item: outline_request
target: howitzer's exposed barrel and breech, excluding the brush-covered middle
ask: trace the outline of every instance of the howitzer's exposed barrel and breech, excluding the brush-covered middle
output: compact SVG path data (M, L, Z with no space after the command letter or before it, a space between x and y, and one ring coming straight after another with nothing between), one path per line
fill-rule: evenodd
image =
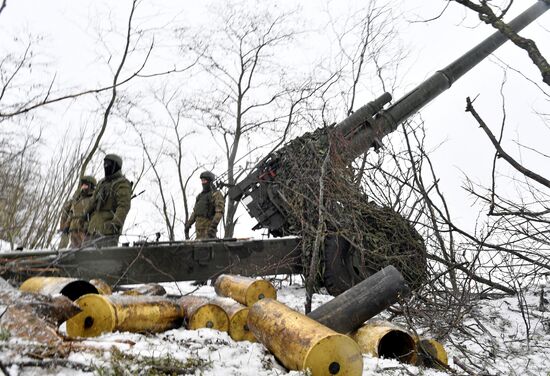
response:
M518 32L550 8L545 0L539 0L509 23ZM426 81L386 109L384 105L392 100L389 93L359 108L334 128L333 137L336 153L348 161L365 153L371 147L381 145L383 137L397 129L397 126L418 112L432 99L451 87L466 72L493 53L508 38L495 32L489 38L472 48L447 67L437 71ZM233 200L246 201L250 215L258 221L255 228L265 228L273 236L291 235L285 229L283 204L277 200L272 184L276 181L281 155L277 151L262 159L248 176L229 190Z

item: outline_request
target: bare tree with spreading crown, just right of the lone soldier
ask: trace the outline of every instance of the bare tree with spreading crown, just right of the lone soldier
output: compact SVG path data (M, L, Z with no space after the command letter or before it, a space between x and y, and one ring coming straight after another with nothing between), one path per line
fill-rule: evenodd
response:
M285 75L273 74L281 70L277 54L298 34L292 16L291 12L231 3L216 14L219 21L214 24L221 26L212 31L201 59L216 89L195 95L193 107L219 140L226 163L224 180L230 186L242 174L238 161L251 152L243 143L257 139L265 144L262 133L284 131L289 119L284 107L296 108L285 103L293 91L285 86ZM225 237L233 236L237 205L233 200L227 202Z

